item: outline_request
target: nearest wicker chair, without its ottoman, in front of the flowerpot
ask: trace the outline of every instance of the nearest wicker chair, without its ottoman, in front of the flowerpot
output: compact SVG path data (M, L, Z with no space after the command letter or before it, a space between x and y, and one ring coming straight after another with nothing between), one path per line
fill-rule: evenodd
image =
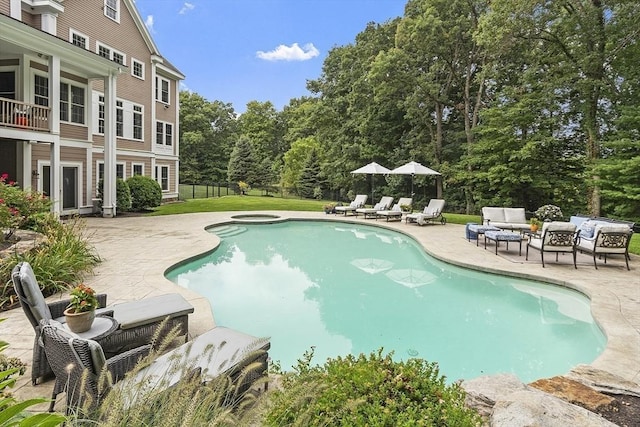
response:
M99 405L109 391L109 387L99 386L102 370L106 368L116 383L151 351L151 345L145 345L107 359L100 344L77 338L55 320L42 320L40 329L42 348L56 377L49 412L62 392L66 392L67 413Z

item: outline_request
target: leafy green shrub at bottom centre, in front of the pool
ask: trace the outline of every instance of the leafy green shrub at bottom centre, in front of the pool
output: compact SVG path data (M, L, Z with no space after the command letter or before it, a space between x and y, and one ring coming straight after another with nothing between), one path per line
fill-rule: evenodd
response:
M382 356L329 359L311 367L305 353L294 372L282 374L282 390L269 396L268 426L477 426L459 385L447 385L438 365Z

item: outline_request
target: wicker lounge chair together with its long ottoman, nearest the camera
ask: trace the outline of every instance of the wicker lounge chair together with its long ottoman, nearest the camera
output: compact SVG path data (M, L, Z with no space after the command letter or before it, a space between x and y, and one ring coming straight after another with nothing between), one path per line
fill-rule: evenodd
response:
M85 405L99 405L116 388L126 405L135 405L141 393L157 395L194 375L202 382L228 375L236 382L237 393L242 394L267 372L268 340L220 326L163 354L130 376L125 375L150 353L150 345L107 359L100 344L79 338L54 320L43 320L41 330L42 345L56 376L50 411L56 396L63 391L70 413ZM106 387L100 378L103 369L111 375Z

